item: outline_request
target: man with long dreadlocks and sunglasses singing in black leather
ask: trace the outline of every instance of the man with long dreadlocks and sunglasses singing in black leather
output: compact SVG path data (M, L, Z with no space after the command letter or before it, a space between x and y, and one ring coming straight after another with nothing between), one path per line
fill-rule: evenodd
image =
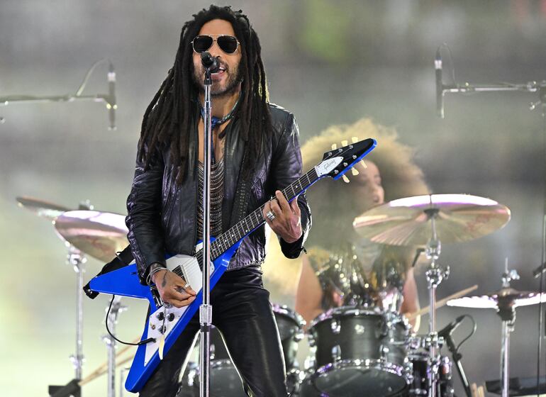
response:
M194 253L201 239L204 75L201 52L218 58L212 74L211 235L220 235L265 203L263 216L286 257L298 257L311 225L303 195L281 193L301 176L294 116L269 104L261 47L247 16L211 6L184 24L172 69L147 107L133 186L128 239L140 280L176 307L196 291L165 267L165 255ZM260 266L264 226L245 237L211 291L220 330L249 396L286 396L284 360ZM174 396L199 317L194 316L140 396Z

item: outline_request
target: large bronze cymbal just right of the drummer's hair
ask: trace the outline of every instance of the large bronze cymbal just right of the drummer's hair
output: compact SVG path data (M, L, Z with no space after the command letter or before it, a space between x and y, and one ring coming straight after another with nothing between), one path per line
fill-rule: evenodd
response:
M510 209L469 194L430 194L390 201L366 211L352 225L359 235L389 245L426 245L436 233L441 242L463 242L493 233L510 220Z

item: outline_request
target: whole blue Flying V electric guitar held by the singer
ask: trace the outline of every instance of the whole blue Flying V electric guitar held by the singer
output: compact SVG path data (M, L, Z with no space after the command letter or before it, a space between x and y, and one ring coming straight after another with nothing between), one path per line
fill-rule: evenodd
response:
M294 181L282 191L288 201L294 200L301 192L314 184L318 179L332 177L339 179L348 169L367 155L376 145L373 139L346 145L340 149L326 152L323 161L313 167L309 172ZM211 241L211 289L228 268L231 257L235 254L245 236L252 233L264 223L262 216L263 206L257 208L246 218L225 233ZM203 252L199 250L195 257L188 255L174 255L167 259L167 267L172 272L183 277L194 291L197 292L195 300L184 308L169 306L165 308L152 294L150 287L143 286L138 280L136 264L133 262L121 269L101 274L91 279L89 283L91 291L97 293L111 293L113 295L130 296L133 298L147 299L150 302L150 316L141 340L147 343L138 346L126 380L126 389L138 393L143 388L147 379L160 363L163 354L166 354L177 340L189 320L199 310L203 299L201 291L201 268Z

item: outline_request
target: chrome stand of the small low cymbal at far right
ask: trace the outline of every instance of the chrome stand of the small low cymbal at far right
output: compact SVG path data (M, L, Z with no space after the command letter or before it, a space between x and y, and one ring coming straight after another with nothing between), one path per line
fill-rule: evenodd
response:
M510 288L510 281L518 280L520 276L516 270L508 272L508 264L505 265L503 273L503 288ZM506 301L498 297L497 314L502 320L502 345L501 345L501 396L508 397L508 379L510 372L510 334L514 330L516 322L516 310L511 301Z

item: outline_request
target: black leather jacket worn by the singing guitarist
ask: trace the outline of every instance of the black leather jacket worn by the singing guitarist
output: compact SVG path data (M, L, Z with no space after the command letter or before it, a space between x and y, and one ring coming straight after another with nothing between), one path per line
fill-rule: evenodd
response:
M272 137L264 142L263 153L257 159L256 172L250 186L239 186L247 191L245 203L234 203L238 185L249 183L239 180L243 179L239 175L245 141L240 137L237 116L226 127L223 231L265 203L275 190L284 189L301 176L299 132L294 115L273 104L269 108L272 115ZM169 147L158 156L159 161L146 171L143 162L136 162L133 186L127 199L126 224L141 282L146 279L150 264L165 264L165 255L194 253L195 242L198 240L196 164L199 157L196 121L190 133L189 173L181 186L176 183L176 168L171 164ZM281 240L282 251L289 258L299 256L311 227L311 212L303 194L299 196L298 204L301 208L303 235L291 244ZM228 269L260 264L265 257L264 245L265 228L262 225L245 237Z

